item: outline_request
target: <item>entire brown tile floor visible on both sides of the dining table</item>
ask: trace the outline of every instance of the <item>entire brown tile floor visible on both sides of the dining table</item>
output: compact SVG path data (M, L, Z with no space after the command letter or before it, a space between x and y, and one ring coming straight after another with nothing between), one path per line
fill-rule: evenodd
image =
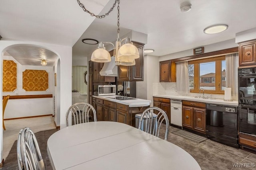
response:
M42 156L47 170L51 170L50 162L46 153L47 140L58 129L42 131L36 133L36 138L40 145ZM240 167L233 166L234 163L250 163L256 165L256 154L245 150L228 147L226 145L216 143L210 139L196 143L173 134L172 132L178 129L170 126L168 141L178 145L182 149L191 154L202 170L255 170L255 167ZM163 137L164 132L160 134ZM182 159L182 158L181 158ZM186 160L184 160L186 162ZM6 158L3 170L18 170L16 142L14 143L8 157Z

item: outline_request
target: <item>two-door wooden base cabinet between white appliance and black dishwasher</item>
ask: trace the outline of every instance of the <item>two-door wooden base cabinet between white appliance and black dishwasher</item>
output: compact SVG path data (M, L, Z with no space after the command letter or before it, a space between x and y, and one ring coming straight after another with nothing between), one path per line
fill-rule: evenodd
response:
M182 101L182 127L206 133L206 104Z

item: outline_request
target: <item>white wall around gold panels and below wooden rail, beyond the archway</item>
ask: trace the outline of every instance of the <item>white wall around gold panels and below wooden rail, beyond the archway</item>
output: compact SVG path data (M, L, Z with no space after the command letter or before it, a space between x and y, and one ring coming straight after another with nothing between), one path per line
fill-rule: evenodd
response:
M3 92L3 96L11 95L40 95L40 94L52 94L52 84L54 74L52 67L50 66L23 66L11 56L3 56L4 60L12 60L17 63L17 89L14 92ZM25 70L46 70L49 74L49 88L46 91L26 92L22 88L22 73ZM36 115L48 115L52 114L52 98L38 98L38 99L15 99L8 100L6 109L4 111L4 119L28 117Z

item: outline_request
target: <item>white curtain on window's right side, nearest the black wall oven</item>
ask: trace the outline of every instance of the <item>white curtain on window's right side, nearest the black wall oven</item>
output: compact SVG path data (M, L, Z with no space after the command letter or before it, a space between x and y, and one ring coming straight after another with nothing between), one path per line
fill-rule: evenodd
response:
M238 97L238 53L226 55L226 87L231 87L232 96Z

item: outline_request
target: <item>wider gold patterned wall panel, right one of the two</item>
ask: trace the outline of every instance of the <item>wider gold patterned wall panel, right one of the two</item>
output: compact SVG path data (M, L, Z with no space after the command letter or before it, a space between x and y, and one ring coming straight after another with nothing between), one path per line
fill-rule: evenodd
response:
M22 88L27 92L46 91L49 88L49 74L46 70L25 70L22 73Z

